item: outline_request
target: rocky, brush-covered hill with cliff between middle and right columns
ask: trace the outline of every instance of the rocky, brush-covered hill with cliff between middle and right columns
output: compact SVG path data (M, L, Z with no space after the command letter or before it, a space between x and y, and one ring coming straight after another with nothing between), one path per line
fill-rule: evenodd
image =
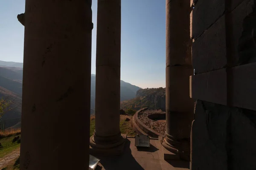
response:
M121 109L140 110L141 108L166 109L165 88L146 88L137 91L136 97L121 102Z

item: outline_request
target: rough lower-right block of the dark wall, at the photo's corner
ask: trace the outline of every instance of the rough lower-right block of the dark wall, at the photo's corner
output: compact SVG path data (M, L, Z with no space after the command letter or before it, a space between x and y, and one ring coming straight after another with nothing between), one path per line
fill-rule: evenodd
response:
M255 170L256 168L255 115L255 111L246 109L232 111L229 127L232 139L228 144L231 170Z

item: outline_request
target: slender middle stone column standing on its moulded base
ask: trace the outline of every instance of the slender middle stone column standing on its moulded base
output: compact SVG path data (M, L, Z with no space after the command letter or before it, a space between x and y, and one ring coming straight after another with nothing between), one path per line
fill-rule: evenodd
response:
M99 152L119 154L124 143L119 127L121 0L98 0L97 12L96 125L90 145Z

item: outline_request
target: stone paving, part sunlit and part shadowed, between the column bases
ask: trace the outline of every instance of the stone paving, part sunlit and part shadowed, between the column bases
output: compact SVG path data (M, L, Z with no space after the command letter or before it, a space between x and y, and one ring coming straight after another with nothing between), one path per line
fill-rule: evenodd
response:
M150 139L150 148L137 149L135 139L127 137L124 153L121 156L99 158L96 170L189 170L189 162L165 161L158 139Z

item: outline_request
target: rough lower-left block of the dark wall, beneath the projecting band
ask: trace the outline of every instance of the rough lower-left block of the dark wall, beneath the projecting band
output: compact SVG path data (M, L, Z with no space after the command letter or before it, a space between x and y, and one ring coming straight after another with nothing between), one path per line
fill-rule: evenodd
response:
M191 170L227 170L227 124L230 118L226 106L197 101L192 128Z

